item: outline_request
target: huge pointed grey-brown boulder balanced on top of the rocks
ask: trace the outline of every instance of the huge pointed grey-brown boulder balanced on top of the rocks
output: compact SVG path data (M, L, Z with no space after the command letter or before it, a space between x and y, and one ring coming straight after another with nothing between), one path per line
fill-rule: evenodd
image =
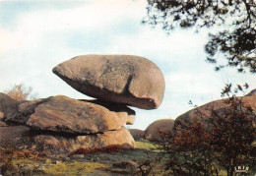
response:
M158 66L139 56L82 55L57 65L53 73L89 96L143 109L158 108L164 93Z

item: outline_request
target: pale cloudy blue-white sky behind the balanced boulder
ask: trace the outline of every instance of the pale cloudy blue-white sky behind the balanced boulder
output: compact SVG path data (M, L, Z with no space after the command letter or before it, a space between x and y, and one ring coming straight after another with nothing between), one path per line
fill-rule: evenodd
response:
M191 109L189 100L202 105L220 99L225 84L247 83L246 92L256 88L255 75L234 68L216 72L205 61L207 30L166 34L142 25L146 6L146 0L0 0L0 92L23 83L39 97L90 98L52 68L85 54L146 57L162 71L165 92L159 109L132 107L136 120L128 128L145 130L156 120L175 119Z

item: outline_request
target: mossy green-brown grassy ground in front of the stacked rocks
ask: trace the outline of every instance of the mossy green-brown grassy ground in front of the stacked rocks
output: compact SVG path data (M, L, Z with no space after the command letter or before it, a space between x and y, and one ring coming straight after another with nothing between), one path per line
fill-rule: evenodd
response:
M0 168L4 175L131 175L139 170L140 164L157 154L157 147L148 141L136 144L137 148L132 150L71 157L40 156L30 151L1 148ZM114 166L120 161L137 165Z

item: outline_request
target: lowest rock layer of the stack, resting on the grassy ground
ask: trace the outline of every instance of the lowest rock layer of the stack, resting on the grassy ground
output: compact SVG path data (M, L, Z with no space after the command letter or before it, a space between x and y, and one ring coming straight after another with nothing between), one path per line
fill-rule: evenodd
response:
M131 134L124 128L102 134L65 136L32 131L25 126L0 127L0 147L16 147L22 150L57 155L68 154L80 148L96 149L116 146L123 149L135 148Z

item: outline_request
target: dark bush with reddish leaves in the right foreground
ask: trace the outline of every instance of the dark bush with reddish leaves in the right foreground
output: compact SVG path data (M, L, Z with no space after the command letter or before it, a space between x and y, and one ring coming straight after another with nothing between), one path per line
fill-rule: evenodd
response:
M247 84L244 87L248 88ZM224 100L227 106L209 107L210 114L196 108L198 118L180 121L173 135L161 134L165 170L174 175L219 175L225 170L231 176L235 166L253 169L256 114L235 95L241 89L238 86L232 92L227 85L222 92L228 95Z

